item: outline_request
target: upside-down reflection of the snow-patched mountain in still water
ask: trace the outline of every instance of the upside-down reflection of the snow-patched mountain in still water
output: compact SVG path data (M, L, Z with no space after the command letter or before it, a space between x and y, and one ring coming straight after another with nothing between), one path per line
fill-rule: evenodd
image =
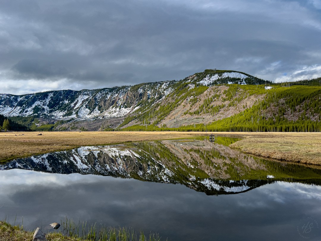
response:
M201 138L80 147L13 160L0 165L0 170L19 168L181 183L207 195L246 192L276 180L321 183L319 169L249 156L219 144L226 141L233 139L219 138L218 143ZM273 180L267 175L273 175Z

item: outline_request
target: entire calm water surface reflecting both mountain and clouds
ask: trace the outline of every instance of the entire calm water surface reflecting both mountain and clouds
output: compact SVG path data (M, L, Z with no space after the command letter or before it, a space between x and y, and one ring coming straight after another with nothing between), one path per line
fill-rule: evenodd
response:
M232 141L81 147L0 165L0 219L46 229L67 216L164 240L321 240L321 170L247 156Z

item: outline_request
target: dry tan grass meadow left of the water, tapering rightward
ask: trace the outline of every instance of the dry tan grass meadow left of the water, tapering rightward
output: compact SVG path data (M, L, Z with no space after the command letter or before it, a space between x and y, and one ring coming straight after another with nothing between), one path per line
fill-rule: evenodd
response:
M197 132L1 132L0 162L81 146L191 138Z

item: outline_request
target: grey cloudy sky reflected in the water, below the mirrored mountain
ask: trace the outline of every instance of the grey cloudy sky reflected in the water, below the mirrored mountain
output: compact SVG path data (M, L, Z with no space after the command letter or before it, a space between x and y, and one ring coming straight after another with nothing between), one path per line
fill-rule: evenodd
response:
M11 181L10 181L11 180ZM238 195L207 196L183 185L99 175L0 172L0 215L27 229L66 215L126 226L165 240L302 240L297 227L321 221L321 187L275 182ZM309 240L320 240L318 229ZM46 230L46 232L48 229Z

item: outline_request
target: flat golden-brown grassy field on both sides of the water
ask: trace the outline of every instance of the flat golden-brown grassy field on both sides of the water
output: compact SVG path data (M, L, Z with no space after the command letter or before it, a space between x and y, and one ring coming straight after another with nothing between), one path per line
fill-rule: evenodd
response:
M67 150L161 139L193 138L213 133L243 138L230 145L242 152L277 160L321 165L319 132L1 132L0 162L14 158Z

